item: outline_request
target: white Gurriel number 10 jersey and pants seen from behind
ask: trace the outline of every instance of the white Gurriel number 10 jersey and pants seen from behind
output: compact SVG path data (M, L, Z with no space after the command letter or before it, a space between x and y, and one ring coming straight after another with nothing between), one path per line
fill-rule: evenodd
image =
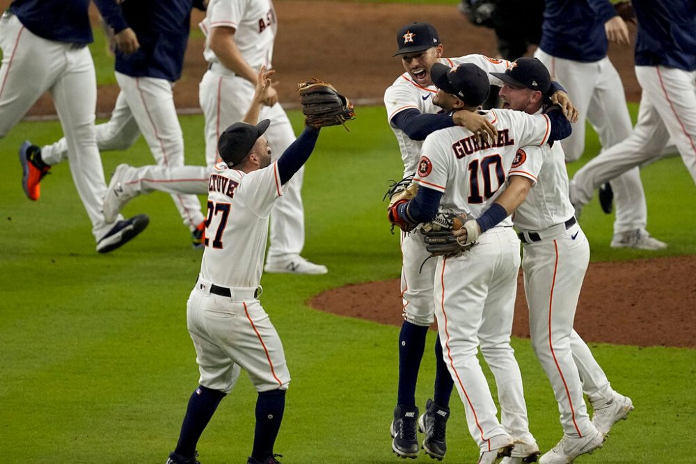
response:
M545 115L507 110L487 115L498 129L492 144L481 145L463 127L441 129L423 143L416 182L443 192L442 208L480 216L500 193L518 148L547 141ZM510 346L519 243L508 217L481 234L470 250L440 257L436 266L434 305L443 355L464 403L469 433L482 451L501 435L533 440ZM503 425L476 358L478 346L496 377Z

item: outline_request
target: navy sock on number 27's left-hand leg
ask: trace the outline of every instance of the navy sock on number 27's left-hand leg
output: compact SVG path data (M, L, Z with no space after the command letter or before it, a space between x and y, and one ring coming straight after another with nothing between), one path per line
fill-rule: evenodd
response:
M184 458L191 458L196 453L196 443L203 429L210 422L220 401L225 397L223 392L211 390L199 385L191 394L189 406L181 426L179 441L174 452Z

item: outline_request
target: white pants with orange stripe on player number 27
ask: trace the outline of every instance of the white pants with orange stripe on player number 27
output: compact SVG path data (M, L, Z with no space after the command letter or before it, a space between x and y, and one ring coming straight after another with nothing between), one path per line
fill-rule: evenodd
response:
M211 294L209 282L201 284L196 282L187 302L200 385L229 393L244 369L258 392L286 390L290 372L283 344L254 289L230 298Z

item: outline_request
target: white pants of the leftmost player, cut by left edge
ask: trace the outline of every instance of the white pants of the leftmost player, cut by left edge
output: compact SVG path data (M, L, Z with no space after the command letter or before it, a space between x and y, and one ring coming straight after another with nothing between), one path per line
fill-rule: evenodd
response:
M99 241L113 223L104 222L106 182L95 140L97 81L88 47L34 35L15 15L0 19L0 137L17 125L36 100L51 93L61 120L70 172ZM117 221L122 220L118 216Z

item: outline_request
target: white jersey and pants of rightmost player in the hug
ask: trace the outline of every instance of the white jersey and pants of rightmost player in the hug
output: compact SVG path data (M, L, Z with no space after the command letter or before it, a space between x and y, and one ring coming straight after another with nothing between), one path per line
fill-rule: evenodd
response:
M561 145L523 147L513 166L509 176L535 180L513 215L523 243L532 347L551 381L564 434L583 437L594 430L583 386L594 403L612 398L606 375L573 329L590 244L573 216Z

